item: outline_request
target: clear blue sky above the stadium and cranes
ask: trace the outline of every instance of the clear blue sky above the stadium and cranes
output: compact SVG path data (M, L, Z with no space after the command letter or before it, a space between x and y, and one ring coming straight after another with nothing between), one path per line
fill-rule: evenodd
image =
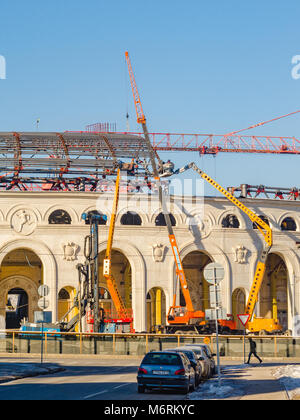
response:
M148 129L222 134L300 109L296 0L12 0L1 6L0 131L139 130L129 51ZM300 114L249 134L299 137ZM299 157L172 155L223 186L300 187Z

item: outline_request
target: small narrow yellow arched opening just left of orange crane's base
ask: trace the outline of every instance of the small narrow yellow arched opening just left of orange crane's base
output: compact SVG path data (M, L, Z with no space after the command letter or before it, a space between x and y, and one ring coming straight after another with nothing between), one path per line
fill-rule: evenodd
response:
M152 331L155 325L166 325L166 295L160 287L147 293L147 331Z

